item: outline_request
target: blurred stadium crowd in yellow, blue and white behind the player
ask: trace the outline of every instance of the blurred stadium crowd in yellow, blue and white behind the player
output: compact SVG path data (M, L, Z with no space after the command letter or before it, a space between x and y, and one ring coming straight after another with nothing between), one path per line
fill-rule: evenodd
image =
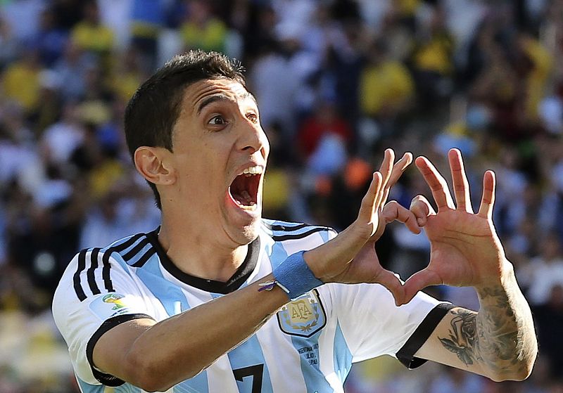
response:
M531 378L377 359L346 392L563 392L562 0L0 0L0 393L77 391L53 289L77 250L158 226L122 113L194 48L246 65L272 145L265 217L345 228L386 147L446 174L460 148L474 205L497 174L495 225L540 340ZM410 169L391 196L418 193ZM378 247L403 278L428 261L400 225ZM432 291L478 307L473 290Z

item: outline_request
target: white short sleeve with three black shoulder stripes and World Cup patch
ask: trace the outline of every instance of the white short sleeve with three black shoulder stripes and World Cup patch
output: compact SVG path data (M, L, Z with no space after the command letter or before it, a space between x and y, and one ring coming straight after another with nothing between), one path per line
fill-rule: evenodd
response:
M107 386L124 382L94 367L97 340L120 323L156 319L125 263L99 249L82 250L72 259L53 297L53 317L77 377L91 385Z

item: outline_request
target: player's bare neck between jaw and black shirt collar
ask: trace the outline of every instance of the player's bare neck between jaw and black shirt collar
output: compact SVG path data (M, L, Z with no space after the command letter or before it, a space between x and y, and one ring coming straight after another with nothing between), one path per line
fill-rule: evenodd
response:
M244 262L248 245L222 245L208 231L194 231L189 220L166 218L158 241L172 262L184 273L215 281L227 281ZM171 229L173 228L173 229Z

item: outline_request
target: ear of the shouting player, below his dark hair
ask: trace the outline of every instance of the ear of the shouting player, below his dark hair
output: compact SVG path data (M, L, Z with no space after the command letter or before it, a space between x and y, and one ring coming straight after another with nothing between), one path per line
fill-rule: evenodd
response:
M137 171L148 181L170 186L176 181L176 172L168 159L170 151L165 148L141 146L135 150L134 162Z

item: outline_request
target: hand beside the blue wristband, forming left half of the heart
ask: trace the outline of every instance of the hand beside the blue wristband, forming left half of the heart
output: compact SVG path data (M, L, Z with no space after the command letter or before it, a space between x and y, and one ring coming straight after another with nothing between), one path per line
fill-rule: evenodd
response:
M412 162L410 153L405 153L393 165L394 158L393 150L387 149L353 224L328 243L305 252L304 257L315 276L324 283L380 283L393 293L399 304L403 300L402 283L391 271L381 267L374 242L381 237L385 225L393 220L404 222L415 233L420 230L410 210L394 201L386 204L391 186Z

